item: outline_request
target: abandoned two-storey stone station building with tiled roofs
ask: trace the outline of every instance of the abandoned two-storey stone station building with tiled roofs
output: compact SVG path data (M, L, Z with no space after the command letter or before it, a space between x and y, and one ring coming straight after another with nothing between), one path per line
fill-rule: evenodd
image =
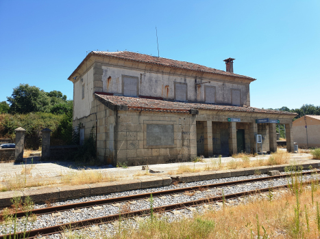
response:
M293 150L296 114L250 107L255 79L234 74L234 59L224 61L226 71L129 51L90 52L69 76L80 142L93 128L100 160L151 165L256 152L256 135L262 151L275 152L280 123Z

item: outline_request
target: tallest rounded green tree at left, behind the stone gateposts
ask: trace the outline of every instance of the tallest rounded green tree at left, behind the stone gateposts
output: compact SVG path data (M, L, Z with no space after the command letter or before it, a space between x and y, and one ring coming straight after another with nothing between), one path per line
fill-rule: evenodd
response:
M20 84L8 98L11 113L49 112L50 98L36 86Z

